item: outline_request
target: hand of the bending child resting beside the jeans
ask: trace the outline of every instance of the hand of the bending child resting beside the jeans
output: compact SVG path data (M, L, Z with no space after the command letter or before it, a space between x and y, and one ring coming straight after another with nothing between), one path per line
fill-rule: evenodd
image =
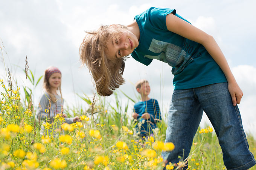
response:
M240 101L244 94L238 84L236 82L231 82L229 83L228 89L232 98L233 106L235 106L236 104L240 104Z

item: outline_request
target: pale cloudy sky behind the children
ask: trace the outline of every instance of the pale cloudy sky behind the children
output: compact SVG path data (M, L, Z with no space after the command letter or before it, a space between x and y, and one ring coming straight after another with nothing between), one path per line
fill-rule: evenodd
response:
M6 80L5 69L9 68L18 86L33 89L23 72L27 56L29 69L36 79L49 66L61 70L61 89L66 105L87 107L75 95L85 93L91 98L95 92L88 69L81 67L79 62L78 50L84 31L97 29L102 24L130 24L135 15L151 6L176 9L177 14L215 38L244 93L238 106L245 132L255 135L254 0L0 0L0 79ZM151 86L149 97L158 100L163 115L168 113L173 91L170 66L158 60L145 66L129 58L123 77L126 83L116 90L120 102L127 102L120 90L136 99L138 93L134 84L146 78ZM43 94L42 83L33 89L36 103ZM113 99L113 96L106 98L110 103ZM130 102L128 114L132 113L132 108ZM204 114L202 123L205 122L209 123L209 120Z

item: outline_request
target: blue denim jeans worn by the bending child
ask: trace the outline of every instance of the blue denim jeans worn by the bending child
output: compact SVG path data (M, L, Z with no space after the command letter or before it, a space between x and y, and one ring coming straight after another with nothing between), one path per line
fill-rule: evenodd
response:
M233 106L227 86L227 83L216 83L174 90L165 142L174 143L175 149L162 152L163 159L168 163L177 163L180 161L178 156L184 159L189 156L204 111L217 134L226 168L246 170L256 164L249 150L238 107Z

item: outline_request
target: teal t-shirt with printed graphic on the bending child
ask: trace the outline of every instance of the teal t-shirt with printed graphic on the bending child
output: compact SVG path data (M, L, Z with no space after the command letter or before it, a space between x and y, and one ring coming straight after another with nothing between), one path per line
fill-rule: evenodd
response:
M135 20L140 29L139 46L131 56L149 65L153 59L172 66L174 89L190 89L227 82L224 73L203 45L170 32L166 15L173 13L188 22L175 9L151 7ZM189 23L189 22L188 22Z

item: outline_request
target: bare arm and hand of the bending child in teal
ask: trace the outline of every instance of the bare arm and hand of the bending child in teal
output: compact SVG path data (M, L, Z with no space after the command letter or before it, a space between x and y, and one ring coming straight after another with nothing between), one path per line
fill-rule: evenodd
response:
M235 77L229 68L227 60L215 39L197 27L194 27L186 21L176 17L172 13L166 16L166 26L169 31L183 36L184 38L198 42L202 44L204 48L206 48L208 53L219 65L227 78L229 84L229 93L232 97L233 105L235 106L236 104L239 104L243 96L243 92L236 83Z

